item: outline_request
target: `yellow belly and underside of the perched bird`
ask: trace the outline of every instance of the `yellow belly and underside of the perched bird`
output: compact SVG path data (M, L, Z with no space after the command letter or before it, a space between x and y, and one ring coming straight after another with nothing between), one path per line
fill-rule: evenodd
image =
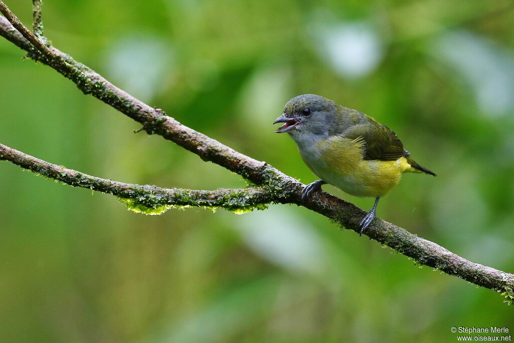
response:
M355 196L383 196L410 171L405 157L394 161L364 160L361 141L341 137L319 141L302 152L305 164L325 182Z

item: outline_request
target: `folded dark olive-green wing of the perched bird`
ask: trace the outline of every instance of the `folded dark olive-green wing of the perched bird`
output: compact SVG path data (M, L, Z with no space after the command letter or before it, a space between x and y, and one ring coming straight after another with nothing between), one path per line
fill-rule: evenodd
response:
M344 136L363 140L365 143L364 159L366 160L393 161L402 156L409 156L393 130L373 119L370 123L355 125L344 132Z

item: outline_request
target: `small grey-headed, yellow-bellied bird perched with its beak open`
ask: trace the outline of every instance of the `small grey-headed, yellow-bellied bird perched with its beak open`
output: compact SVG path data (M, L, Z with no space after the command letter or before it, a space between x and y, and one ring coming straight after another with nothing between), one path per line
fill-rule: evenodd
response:
M302 201L324 184L375 198L360 222L360 234L375 219L380 197L400 182L402 173L435 176L410 157L386 125L319 95L292 98L276 123L284 124L275 132L287 132L295 140L303 161L320 178L304 188Z

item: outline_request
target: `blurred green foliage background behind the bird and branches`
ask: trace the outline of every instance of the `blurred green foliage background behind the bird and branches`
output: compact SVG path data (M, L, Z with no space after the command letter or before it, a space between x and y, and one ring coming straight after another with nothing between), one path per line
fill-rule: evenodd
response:
M29 1L7 5L30 25ZM386 123L437 177L378 216L514 271L514 6L508 1L46 0L53 44L144 102L304 183L272 121L315 93ZM245 182L84 96L0 40L0 142L128 183ZM418 268L305 208L127 211L0 163L0 341L455 341L507 326L498 293ZM368 210L372 199L327 191Z

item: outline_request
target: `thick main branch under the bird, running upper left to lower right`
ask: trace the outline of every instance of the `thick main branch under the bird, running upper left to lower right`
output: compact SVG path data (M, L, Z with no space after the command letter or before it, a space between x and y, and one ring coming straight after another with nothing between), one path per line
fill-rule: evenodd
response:
M6 15L7 6L0 1L0 11ZM245 179L267 187L272 192L273 202L297 204L314 210L332 219L344 228L359 230L359 222L365 212L353 204L345 202L325 192L317 192L305 203L301 202L301 192L305 185L283 174L265 162L255 160L207 137L175 119L163 111L154 109L142 101L128 95L94 70L75 61L58 49L34 44L33 34L19 21L11 20L19 33L0 17L0 35L16 46L29 52L29 57L56 69L73 81L84 94L90 94L111 105L126 116L143 125L148 134L158 134L173 141L205 161L211 161ZM31 43L38 48L34 51ZM32 53L30 53L32 52ZM59 63L55 62L59 61ZM70 68L68 68L70 66ZM501 292L510 302L514 299L514 275L478 263L468 261L436 243L419 238L405 229L386 221L375 219L366 231L371 239L387 245L417 263L427 265L466 281Z

